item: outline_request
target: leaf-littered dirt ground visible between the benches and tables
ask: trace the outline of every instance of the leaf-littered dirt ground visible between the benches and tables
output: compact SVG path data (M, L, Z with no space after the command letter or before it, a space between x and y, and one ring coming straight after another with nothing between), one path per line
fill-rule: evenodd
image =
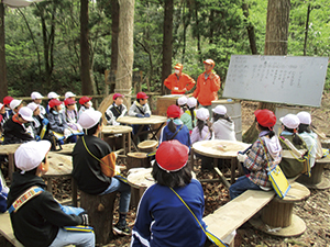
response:
M329 120L330 120L330 93L322 97L322 105L319 109L307 109L311 111L312 124L318 131L324 133L330 137ZM242 130L246 131L253 123L253 112L257 108L257 103L243 101L242 102ZM195 170L197 178L213 178L212 172L199 173L199 169ZM229 177L229 171L224 172ZM330 179L330 167L326 166L323 179ZM55 183L56 184L56 183ZM67 181L69 190L69 181ZM213 212L221 205L229 201L228 190L219 182L204 183L206 212L205 215ZM56 190L55 190L56 191ZM58 190L57 190L58 191ZM302 202L296 203L294 213L301 217L306 223L306 232L297 237L274 237L262 233L255 228L245 227L238 229L235 237L235 246L279 246L279 247L298 247L298 246L314 246L314 247L330 247L330 190L310 190L310 197ZM68 194L68 193L67 193ZM58 192L56 197L66 198ZM118 203L118 200L117 200ZM136 209L131 209L128 215L128 222L133 227ZM114 217L118 217L116 215ZM114 222L117 220L114 218ZM226 226L223 226L226 227ZM114 238L107 245L110 246L130 246L130 237L114 236ZM0 246L3 246L0 238ZM6 245L8 246L8 245Z

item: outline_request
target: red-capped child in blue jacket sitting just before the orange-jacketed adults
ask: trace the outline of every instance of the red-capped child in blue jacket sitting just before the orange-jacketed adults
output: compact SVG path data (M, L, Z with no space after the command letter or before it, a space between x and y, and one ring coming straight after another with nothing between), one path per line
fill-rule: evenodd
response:
M190 148L191 141L188 127L180 121L180 108L173 104L167 108L167 124L162 128L160 144L165 141L177 139Z

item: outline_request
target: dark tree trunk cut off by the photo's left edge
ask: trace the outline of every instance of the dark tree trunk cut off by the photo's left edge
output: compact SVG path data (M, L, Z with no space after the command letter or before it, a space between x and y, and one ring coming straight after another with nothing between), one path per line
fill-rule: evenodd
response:
M4 50L4 4L0 2L0 99L8 94Z

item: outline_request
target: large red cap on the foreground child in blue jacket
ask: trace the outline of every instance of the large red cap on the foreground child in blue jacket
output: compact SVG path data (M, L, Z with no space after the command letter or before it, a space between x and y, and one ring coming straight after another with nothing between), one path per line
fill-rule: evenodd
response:
M156 151L158 167L167 171L178 171L188 161L189 148L177 139L161 143Z

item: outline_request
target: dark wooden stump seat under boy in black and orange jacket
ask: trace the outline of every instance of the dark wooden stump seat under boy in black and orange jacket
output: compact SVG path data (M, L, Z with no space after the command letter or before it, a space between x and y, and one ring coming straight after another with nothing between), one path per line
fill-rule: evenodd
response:
M89 224L94 227L97 244L108 244L113 237L113 205L117 192L91 195L80 191L80 206L88 212Z

